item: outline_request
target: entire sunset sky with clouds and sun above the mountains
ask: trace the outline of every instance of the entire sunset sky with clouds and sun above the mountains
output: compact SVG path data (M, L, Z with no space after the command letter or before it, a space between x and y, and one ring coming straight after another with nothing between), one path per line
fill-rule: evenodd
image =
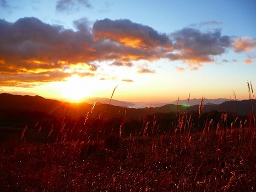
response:
M248 99L256 1L0 0L0 93Z

